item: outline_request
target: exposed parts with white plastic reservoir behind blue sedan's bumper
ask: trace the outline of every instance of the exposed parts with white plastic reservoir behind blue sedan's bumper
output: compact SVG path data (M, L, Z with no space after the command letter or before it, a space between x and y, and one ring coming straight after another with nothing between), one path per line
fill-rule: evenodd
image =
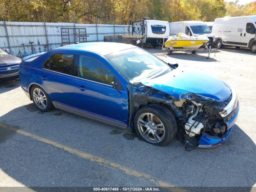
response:
M183 122L178 135L184 142L186 150L192 150L198 146L202 132L219 137L225 134L224 120L213 106L207 106L201 102L185 101L181 108L183 116L180 120Z

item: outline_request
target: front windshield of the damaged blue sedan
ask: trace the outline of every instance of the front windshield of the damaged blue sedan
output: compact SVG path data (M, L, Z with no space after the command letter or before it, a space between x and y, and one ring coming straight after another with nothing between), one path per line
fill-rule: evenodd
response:
M162 60L140 48L122 50L105 57L131 83L140 82L166 70L171 71Z

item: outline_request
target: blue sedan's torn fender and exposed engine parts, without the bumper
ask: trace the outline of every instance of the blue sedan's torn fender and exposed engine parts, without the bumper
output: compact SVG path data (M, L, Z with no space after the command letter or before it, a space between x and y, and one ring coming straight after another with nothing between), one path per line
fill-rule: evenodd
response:
M220 112L230 102L232 95L224 102L209 101L200 96L178 99L154 88L137 84L129 90L130 118L138 108L150 103L157 103L168 108L176 118L177 136L185 145L185 150L198 147L201 136L206 133L211 137L223 138L227 133L226 118ZM130 119L130 126L132 126Z

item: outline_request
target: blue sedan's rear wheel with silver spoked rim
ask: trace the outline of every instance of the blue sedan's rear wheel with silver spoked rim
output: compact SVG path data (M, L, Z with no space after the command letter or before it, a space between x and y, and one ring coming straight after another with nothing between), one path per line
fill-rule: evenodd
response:
M53 109L52 101L50 100L48 94L41 87L34 85L30 94L38 110L42 112L48 112Z

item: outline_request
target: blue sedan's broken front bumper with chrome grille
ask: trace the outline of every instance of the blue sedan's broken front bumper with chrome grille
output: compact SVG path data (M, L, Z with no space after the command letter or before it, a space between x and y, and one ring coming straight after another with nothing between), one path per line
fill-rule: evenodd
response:
M230 103L224 108L223 112L220 113L220 115L224 119L228 119L228 121L225 120L226 127L227 127L226 133L223 134L222 137L218 137L218 136L212 136L206 132L203 132L198 142L199 144L198 147L202 147L202 148L215 147L224 143L227 140L227 138L230 136L230 133L234 128L234 124L238 118L238 112L239 112L239 103L237 100L236 93L234 92L234 90L232 90L232 99ZM232 115L231 119L230 119L230 115Z

